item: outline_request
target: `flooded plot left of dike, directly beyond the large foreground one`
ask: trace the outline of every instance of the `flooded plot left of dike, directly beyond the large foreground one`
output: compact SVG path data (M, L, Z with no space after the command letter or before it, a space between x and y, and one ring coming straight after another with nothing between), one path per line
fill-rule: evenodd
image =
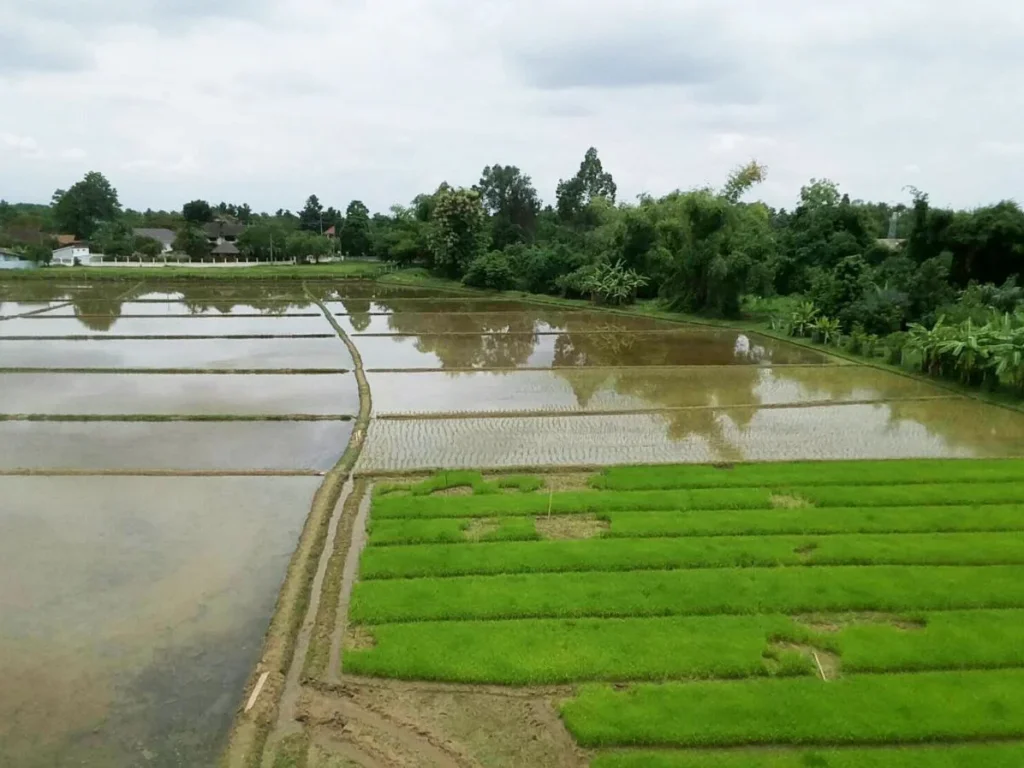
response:
M0 421L0 470L326 471L348 421Z

